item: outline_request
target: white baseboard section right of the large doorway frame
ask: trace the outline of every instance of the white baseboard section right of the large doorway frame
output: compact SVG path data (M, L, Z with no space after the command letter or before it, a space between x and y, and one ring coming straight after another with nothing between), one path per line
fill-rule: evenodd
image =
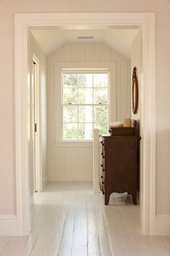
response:
M156 216L154 234L159 236L170 236L170 215Z

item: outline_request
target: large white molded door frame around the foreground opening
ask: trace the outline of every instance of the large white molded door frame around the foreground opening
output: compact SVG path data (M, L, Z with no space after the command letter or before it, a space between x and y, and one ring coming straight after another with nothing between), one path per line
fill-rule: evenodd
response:
M141 192L141 229L155 233L156 219L156 62L155 14L153 13L49 13L15 14L15 142L18 234L30 232L30 135L27 71L28 33L32 26L110 25L139 27L143 33L142 132L143 175Z

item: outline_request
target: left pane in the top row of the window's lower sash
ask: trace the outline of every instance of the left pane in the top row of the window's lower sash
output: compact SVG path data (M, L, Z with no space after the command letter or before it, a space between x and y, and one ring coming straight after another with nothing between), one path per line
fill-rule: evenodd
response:
M63 122L77 122L78 121L78 107L77 106L63 106Z

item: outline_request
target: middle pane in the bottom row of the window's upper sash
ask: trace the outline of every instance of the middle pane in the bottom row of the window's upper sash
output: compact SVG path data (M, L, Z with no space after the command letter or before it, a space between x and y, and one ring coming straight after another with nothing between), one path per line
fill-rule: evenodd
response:
M92 104L93 103L93 90L92 89L79 89L79 104Z

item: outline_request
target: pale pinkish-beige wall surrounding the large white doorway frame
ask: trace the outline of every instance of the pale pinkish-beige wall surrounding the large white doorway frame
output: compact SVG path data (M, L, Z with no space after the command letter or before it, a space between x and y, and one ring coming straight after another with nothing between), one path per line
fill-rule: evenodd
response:
M0 214L15 212L14 13L156 12L156 213L170 214L170 4L166 0L0 1Z

